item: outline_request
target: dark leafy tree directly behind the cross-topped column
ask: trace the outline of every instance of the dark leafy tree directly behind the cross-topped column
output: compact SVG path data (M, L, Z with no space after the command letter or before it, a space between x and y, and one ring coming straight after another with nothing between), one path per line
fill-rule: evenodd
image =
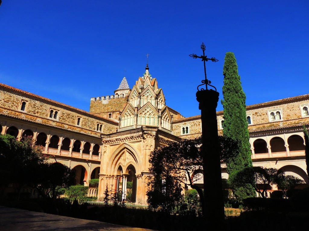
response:
M220 136L221 160L227 161L237 153L238 144L227 137ZM191 177L194 172L202 171L202 139L173 142L167 147L150 153L150 176L148 181L147 202L151 209L160 209L172 213L181 202L182 185L187 184L196 189L204 208L202 189L195 182L200 180Z

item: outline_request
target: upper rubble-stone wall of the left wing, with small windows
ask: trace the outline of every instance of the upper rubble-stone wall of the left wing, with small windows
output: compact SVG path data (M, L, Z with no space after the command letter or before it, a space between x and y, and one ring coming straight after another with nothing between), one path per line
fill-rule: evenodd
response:
M26 102L24 110L22 102ZM49 117L50 110L58 112L56 119ZM94 136L118 128L115 121L4 84L0 84L0 114ZM96 131L97 123L103 124L102 132Z

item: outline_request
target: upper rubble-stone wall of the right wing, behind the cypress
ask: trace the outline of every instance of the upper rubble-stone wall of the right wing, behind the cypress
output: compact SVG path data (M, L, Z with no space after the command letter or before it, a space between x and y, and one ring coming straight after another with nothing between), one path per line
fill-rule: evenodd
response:
M304 115L303 107L309 109L309 95L301 95L266 103L247 106L247 116L251 117L249 132L263 131L274 128L286 128L309 123L309 116ZM270 112L280 112L281 119L271 121ZM218 134L222 135L221 121L223 111L217 112ZM188 134L182 134L182 128L187 127ZM173 121L173 134L184 139L192 139L201 135L201 116L192 116Z

